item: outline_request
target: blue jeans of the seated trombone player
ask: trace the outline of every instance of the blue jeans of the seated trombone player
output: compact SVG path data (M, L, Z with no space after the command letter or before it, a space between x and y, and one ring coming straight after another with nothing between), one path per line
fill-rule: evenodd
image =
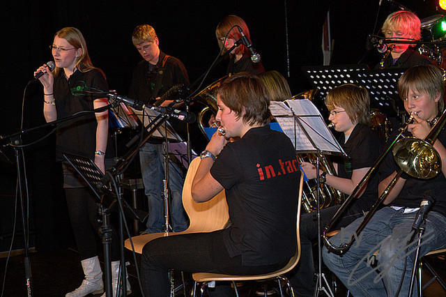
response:
M367 226L362 230L355 243L343 256L328 252L323 248L323 261L331 271L351 291L353 296L395 296L403 273L407 257L406 272L399 296L407 296L410 287L410 273L415 258L415 243L407 245L415 220L415 213L403 213L385 207L377 211ZM350 241L353 232L362 222L358 218L345 229L331 238L334 245ZM420 245L420 257L431 250L446 246L446 218L440 213L429 212L426 215L426 229ZM406 250L406 248L408 249ZM370 266L374 252L378 266ZM414 285L413 296L417 294Z

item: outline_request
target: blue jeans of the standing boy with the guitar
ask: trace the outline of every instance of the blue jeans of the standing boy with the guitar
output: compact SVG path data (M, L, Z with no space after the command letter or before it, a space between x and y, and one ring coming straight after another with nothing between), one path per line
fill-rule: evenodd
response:
M164 231L164 146L146 143L139 149L141 176L148 199L147 232ZM169 196L171 227L174 231L187 228L182 191L184 174L174 162L169 162Z

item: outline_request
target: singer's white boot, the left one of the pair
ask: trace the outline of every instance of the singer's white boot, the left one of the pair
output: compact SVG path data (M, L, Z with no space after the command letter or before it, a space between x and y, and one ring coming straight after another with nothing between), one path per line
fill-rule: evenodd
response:
M98 256L81 261L84 269L85 279L79 288L75 289L66 297L82 297L89 294L102 294L104 291L104 283L102 282L102 271Z

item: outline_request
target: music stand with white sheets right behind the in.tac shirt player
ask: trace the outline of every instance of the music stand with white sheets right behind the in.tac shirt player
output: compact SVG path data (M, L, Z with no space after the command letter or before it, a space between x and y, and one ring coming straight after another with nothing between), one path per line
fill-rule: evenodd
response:
M295 147L296 153L316 154L316 216L318 220L318 272L316 273L315 296L324 292L330 297L334 294L330 289L325 275L322 273L322 245L321 245L321 183L319 178L319 155L344 155L337 140L328 129L321 113L308 99L274 101L270 105L271 114L275 116ZM323 287L322 281L327 288Z

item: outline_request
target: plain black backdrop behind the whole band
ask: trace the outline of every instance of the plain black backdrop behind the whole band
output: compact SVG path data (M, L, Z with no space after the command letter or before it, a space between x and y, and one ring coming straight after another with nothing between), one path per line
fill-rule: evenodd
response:
M424 18L439 13L436 2L401 0L398 3ZM289 79L293 93L299 93L309 89L300 74L300 67L320 66L323 63L321 32L328 9L334 40L332 64L350 64L357 63L365 52L367 34L374 30L378 3L378 0L8 1L3 3L1 9L3 96L0 135L19 130L25 86L33 70L52 59L48 45L52 43L54 33L64 26L76 26L82 31L93 64L105 71L110 89L125 95L132 68L140 60L131 42L134 26L144 23L153 25L161 49L185 63L193 82L210 66L218 53L215 26L224 15L236 14L247 22L252 43L261 53L266 70L279 70ZM388 13L397 9L395 3L382 1L378 26ZM205 85L222 77L224 68L215 68ZM44 121L39 91L40 84L29 84L24 96L25 127L33 127ZM36 171L34 165L46 162L40 156L51 150L48 143L43 142L29 150L30 175L41 181L39 185L48 183L49 173L42 172L43 169ZM6 155L10 156L10 152L7 151ZM15 167L6 162L0 162L0 166L0 188L3 190L0 202L10 203L15 190ZM50 170L49 166L45 169ZM43 195L57 196L59 193L56 188L53 190L56 194L51 194L47 191L47 185L41 191ZM53 202L45 203L45 207L49 204ZM8 215L0 214L0 217L8 218L10 208L2 208Z

